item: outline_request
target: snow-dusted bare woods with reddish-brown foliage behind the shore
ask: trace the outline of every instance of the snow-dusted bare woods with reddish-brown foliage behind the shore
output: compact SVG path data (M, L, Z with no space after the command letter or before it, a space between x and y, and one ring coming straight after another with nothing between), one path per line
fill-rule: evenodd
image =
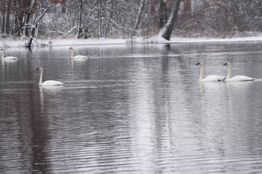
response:
M82 39L262 32L262 0L0 0L0 11L1 36L14 39L33 29L39 38Z

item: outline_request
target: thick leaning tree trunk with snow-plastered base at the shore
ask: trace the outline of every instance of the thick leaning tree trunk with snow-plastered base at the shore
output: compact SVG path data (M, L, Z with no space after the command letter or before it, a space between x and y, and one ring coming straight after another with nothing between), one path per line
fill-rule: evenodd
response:
M171 11L170 17L167 23L165 23L165 26L159 31L159 36L163 37L164 39L168 41L170 41L170 36L174 29L174 23L177 20L177 14L179 13L180 3L181 3L181 0L174 0L172 4L172 11Z

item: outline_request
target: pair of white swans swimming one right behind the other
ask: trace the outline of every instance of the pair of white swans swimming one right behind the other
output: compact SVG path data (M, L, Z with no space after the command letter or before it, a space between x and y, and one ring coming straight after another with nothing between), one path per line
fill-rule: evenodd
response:
M228 76L217 76L217 75L210 75L205 78L203 78L203 72L204 72L204 64L203 62L196 63L196 65L200 65L200 82L214 82L214 81L225 81L225 82L237 82L237 81L252 81L255 80L255 78L250 78L248 76L234 76L230 78L230 72L231 72L231 63L225 63L223 65L226 65L228 67Z

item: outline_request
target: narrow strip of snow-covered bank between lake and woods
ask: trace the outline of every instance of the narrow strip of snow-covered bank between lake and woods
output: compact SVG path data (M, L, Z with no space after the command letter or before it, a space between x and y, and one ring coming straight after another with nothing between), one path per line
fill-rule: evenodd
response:
M207 38L179 38L173 37L170 41L159 38L151 39L51 39L37 40L33 47L37 46L63 46L63 45L115 45L128 43L207 43L207 42L244 42L244 41L262 41L262 36L250 36L244 38L232 39L207 39ZM25 47L28 40L0 39L0 45L5 47Z

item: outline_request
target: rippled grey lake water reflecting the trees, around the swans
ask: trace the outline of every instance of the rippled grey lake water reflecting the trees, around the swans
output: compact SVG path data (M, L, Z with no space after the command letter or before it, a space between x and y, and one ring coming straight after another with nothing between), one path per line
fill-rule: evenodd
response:
M8 48L0 173L262 173L262 43ZM205 75L254 82L199 83ZM59 80L61 87L39 87Z

